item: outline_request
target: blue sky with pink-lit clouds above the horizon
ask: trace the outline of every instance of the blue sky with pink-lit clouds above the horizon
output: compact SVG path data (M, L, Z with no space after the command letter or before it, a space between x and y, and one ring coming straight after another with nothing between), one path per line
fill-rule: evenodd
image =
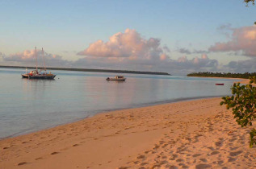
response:
M0 65L256 72L255 21L243 0L0 0Z

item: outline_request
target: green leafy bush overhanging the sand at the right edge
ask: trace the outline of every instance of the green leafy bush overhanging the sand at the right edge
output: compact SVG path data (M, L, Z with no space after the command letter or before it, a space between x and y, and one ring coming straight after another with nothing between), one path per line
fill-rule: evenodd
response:
M256 76L250 77L248 85L235 83L232 89L232 96L222 97L224 101L220 105L226 105L227 109L232 109L234 118L241 127L252 126L256 119ZM250 131L250 147L256 145L256 130Z

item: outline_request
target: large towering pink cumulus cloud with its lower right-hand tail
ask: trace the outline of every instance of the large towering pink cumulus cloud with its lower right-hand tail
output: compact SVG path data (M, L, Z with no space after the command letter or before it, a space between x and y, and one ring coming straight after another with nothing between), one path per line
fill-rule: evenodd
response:
M124 33L112 35L106 43L103 40L91 43L84 51L78 52L78 55L86 57L76 63L88 65L97 62L98 66L107 65L108 68L115 68L116 64L123 68L137 65L141 70L149 71L150 68L150 71L163 72L186 72L195 68L207 70L218 65L217 60L210 60L206 54L191 60L187 56L172 60L166 52L170 49L162 47L161 39L144 39L136 30L126 29Z

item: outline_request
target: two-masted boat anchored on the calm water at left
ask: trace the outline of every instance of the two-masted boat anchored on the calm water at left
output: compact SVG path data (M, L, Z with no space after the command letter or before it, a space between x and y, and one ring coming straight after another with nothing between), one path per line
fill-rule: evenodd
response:
M42 47L42 53L44 57L44 49ZM36 47L35 47L35 56L36 56ZM44 70L44 72L42 72ZM26 73L21 75L23 78L28 78L28 79L49 79L52 80L56 75L52 74L51 72L46 71L45 67L45 60L44 60L44 69L41 69L40 72L38 71L37 68L37 56L36 56L36 70L32 70L31 72L27 73L27 68L26 68Z

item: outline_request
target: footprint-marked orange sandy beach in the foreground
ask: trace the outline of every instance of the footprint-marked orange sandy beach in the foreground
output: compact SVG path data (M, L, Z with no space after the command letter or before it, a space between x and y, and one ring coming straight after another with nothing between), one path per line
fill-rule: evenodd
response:
M115 110L6 138L0 167L256 167L250 128L241 129L220 100Z

